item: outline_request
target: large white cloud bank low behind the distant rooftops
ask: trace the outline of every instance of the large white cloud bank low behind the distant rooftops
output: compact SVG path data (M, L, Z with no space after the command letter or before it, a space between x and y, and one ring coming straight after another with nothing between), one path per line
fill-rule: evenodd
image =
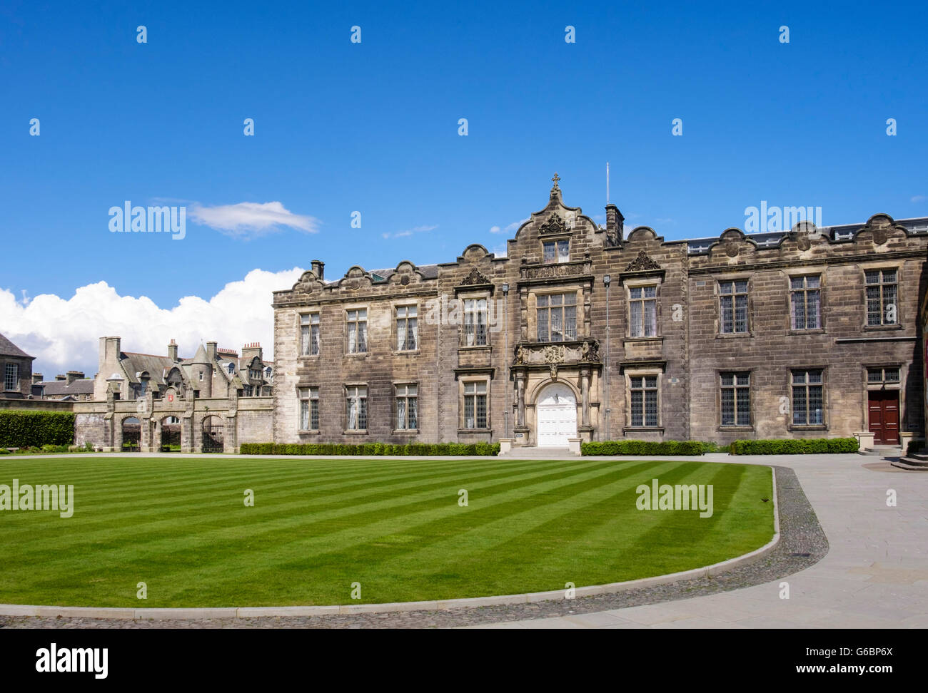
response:
M122 337L123 351L143 354L166 355L168 342L176 339L183 358L192 357L200 341L230 349L260 342L264 357L272 359L271 292L289 289L302 273L298 267L252 270L212 298L184 296L171 308L159 307L148 296L120 296L106 282L82 286L70 298L41 294L18 300L0 289L0 333L36 357L33 368L48 380L71 369L93 377L98 339L108 335Z

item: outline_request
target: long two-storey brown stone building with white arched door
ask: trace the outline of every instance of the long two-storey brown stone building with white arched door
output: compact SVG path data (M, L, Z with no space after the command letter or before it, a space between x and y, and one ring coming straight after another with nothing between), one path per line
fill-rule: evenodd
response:
M928 220L666 241L605 211L555 175L505 258L336 281L314 260L274 295L273 439L923 435Z

